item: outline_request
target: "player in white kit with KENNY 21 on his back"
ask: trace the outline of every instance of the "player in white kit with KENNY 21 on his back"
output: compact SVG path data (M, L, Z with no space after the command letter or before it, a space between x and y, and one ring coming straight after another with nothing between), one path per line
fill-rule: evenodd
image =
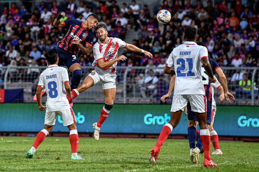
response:
M182 116L182 109L190 101L191 108L195 112L200 125L201 141L204 147L205 167L216 167L217 164L210 158L210 132L207 127L207 105L204 87L202 83L201 62L205 71L213 78L212 68L208 61L208 51L206 47L199 46L195 43L197 28L186 26L184 29L184 44L174 48L167 59L165 73L176 74L174 97L171 108L170 121L163 126L159 135L157 144L151 149L149 161L152 165L156 164L161 146L167 139L173 128L176 127ZM171 67L174 66L174 70Z

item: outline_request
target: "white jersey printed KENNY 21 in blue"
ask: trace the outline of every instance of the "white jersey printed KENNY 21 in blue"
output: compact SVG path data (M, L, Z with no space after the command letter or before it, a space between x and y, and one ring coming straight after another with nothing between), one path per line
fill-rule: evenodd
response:
M206 47L195 42L185 41L175 47L169 55L166 65L174 66L176 80L174 94L204 94L201 74L201 59L208 58Z

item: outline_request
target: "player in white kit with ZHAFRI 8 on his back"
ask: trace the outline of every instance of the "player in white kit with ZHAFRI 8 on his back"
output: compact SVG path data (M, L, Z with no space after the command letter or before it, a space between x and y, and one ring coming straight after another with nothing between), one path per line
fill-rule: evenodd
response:
M38 146L53 129L56 118L59 115L63 121L63 125L67 126L70 131L69 141L72 150L71 159L83 160L79 155L77 155L79 139L75 114L69 106L66 98L66 92L71 96L71 87L69 85L67 70L64 67L58 66L58 52L56 49L49 50L45 54L45 58L49 62L49 66L39 77L39 84L36 93L39 110L46 111L45 126L44 129L37 134L31 149L27 152L26 158L33 158ZM41 91L43 88L46 89L47 93L46 106L41 104Z

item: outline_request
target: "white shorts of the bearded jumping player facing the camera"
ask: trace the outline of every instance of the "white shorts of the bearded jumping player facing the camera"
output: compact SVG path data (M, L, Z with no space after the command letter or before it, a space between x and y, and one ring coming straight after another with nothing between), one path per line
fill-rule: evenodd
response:
M104 71L99 67L94 67L94 70L88 76L93 78L94 85L102 81L103 90L116 88L115 82L117 75L115 73Z

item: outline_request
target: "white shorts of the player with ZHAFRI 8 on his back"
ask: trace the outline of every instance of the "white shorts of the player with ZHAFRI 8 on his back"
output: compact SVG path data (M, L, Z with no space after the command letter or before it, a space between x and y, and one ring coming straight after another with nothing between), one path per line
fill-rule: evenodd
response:
M63 121L63 126L68 126L73 123L76 123L75 113L72 108L66 109L63 111L54 111L54 112L46 112L45 113L45 124L47 125L55 125L56 118L58 115L61 117Z

